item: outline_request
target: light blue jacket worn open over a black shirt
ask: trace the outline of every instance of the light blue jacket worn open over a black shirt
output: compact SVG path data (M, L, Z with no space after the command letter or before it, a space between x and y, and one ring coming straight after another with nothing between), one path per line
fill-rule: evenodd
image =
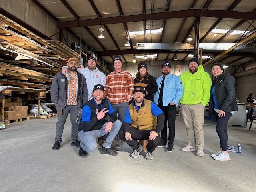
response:
M158 91L154 95L154 102L158 104L158 98L161 88L161 82L163 76L157 78L156 83L158 85ZM163 106L168 106L170 102L173 102L178 107L178 102L183 94L183 85L179 76L174 74L168 74L164 79L163 90Z

